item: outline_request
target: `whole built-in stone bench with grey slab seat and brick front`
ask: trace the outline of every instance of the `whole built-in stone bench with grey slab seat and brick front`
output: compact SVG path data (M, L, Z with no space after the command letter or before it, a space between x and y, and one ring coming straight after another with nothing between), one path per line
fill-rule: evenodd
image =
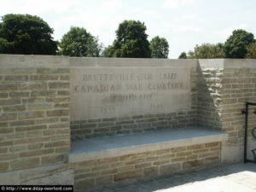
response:
M224 131L200 126L73 141L75 186L90 189L220 164Z

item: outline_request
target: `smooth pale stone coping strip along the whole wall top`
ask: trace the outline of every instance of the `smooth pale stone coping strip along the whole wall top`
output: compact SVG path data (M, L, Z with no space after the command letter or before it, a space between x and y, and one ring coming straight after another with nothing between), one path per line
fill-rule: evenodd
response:
M0 67L208 67L256 68L255 59L152 59L0 54Z

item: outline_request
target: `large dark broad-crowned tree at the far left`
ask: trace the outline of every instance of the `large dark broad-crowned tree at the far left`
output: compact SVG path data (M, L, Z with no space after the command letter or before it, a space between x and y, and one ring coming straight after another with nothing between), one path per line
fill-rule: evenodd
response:
M54 30L32 15L4 15L0 23L0 53L55 55Z

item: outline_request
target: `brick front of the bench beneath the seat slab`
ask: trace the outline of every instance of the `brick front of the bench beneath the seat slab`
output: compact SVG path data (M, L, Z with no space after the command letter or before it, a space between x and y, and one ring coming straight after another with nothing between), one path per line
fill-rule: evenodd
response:
M74 187L90 191L111 184L218 166L220 150L219 142L203 143L73 163Z

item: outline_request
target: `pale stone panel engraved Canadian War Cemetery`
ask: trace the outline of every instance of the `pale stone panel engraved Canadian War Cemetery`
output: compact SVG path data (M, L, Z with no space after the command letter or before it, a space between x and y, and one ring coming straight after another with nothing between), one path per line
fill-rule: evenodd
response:
M72 67L71 119L188 110L189 93L189 67Z

